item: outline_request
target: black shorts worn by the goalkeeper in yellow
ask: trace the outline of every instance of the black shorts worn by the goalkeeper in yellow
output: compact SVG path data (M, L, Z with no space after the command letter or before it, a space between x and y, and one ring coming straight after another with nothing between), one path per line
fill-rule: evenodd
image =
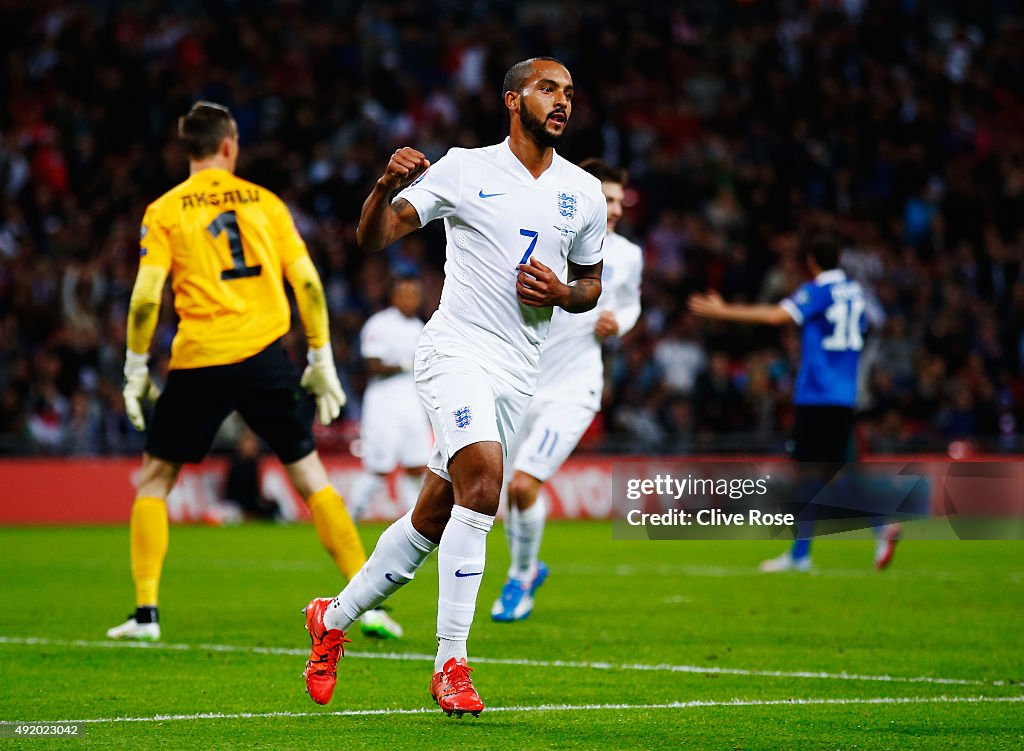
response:
M284 464L309 455L316 404L279 339L241 363L172 370L157 400L146 453L169 462L199 462L232 411Z

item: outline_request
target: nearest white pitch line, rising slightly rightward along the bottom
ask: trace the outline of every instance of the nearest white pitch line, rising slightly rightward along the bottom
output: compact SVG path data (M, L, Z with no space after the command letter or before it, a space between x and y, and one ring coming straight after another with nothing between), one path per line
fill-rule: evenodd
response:
M750 700L730 699L725 702L691 701L668 702L666 704L539 704L518 707L488 707L485 712L594 712L602 710L624 709L701 709L715 707L813 707L837 705L865 704L989 704L1006 702L1024 702L1024 696L1017 697L878 697L871 699L774 699ZM54 720L4 720L4 723L33 722L35 724L54 724L57 722L174 722L198 719L270 719L276 717L373 717L400 714L437 714L436 707L416 709L343 709L336 712L198 712L196 714L155 714L151 717L87 717L81 719Z

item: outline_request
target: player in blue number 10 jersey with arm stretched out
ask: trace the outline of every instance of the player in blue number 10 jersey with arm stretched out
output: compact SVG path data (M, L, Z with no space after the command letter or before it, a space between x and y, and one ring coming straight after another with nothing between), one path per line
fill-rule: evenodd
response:
M835 473L829 467L855 458L853 407L857 400L857 368L864 346L864 290L839 267L839 244L819 236L807 246L807 265L814 279L778 304L740 305L725 302L716 292L694 295L690 310L705 318L746 324L801 327L802 353L794 392L796 424L793 458L814 462L820 483ZM814 478L812 476L812 484ZM811 568L811 525L798 526L790 551L761 564L761 571L808 571ZM876 528L877 569L892 560L899 526Z

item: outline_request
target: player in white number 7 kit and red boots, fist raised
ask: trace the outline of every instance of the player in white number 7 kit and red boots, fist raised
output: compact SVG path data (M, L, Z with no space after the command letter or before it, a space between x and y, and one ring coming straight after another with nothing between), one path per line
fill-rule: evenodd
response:
M585 312L597 304L606 222L600 181L554 150L572 111L565 67L550 57L517 62L503 92L505 141L452 149L433 166L415 149L399 149L362 206L356 238L364 250L444 220L444 288L414 366L434 450L416 507L385 530L337 597L305 609L312 641L306 690L319 704L334 692L345 630L410 582L437 548L430 694L449 715L483 710L466 641L504 461L537 385L553 308Z

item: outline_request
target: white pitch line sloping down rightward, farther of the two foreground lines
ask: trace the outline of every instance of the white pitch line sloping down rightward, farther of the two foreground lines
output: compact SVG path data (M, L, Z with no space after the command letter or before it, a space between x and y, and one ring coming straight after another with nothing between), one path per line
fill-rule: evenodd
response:
M83 639L60 640L35 636L0 636L0 644L23 646L80 646L87 649L122 650L168 650L174 652L221 652L248 655L284 655L306 657L308 649L288 646L245 646L237 644L185 644L163 641L86 641ZM433 662L433 655L415 652L346 652L346 657L364 660L393 660L397 662ZM811 670L751 670L745 668L723 668L705 665L673 665L669 663L612 663L612 662L571 662L567 660L525 660L518 658L474 657L474 664L515 665L529 668L572 668L579 670L632 670L660 673L695 673L698 675L746 675L763 678L812 678L820 680L867 680L885 683L937 683L942 685L1009 685L1006 680L978 680L973 678L942 678L930 675L861 675L858 673L827 673Z

